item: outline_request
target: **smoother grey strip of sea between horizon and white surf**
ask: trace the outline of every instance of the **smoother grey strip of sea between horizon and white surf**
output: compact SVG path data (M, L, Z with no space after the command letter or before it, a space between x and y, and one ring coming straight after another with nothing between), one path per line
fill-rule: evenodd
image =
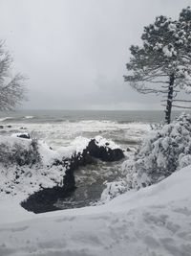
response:
M181 111L173 111L172 117ZM162 110L17 110L0 112L0 121L19 123L59 123L64 121L107 120L118 123L163 121Z

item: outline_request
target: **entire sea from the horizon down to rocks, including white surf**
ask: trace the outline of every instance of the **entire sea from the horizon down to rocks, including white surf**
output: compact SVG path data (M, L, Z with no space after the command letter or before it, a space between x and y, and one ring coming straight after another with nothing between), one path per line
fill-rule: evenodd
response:
M180 115L174 111L173 119ZM76 137L101 135L125 149L136 145L150 129L161 123L163 111L126 110L18 110L0 113L0 134L30 132L53 148L70 145Z

